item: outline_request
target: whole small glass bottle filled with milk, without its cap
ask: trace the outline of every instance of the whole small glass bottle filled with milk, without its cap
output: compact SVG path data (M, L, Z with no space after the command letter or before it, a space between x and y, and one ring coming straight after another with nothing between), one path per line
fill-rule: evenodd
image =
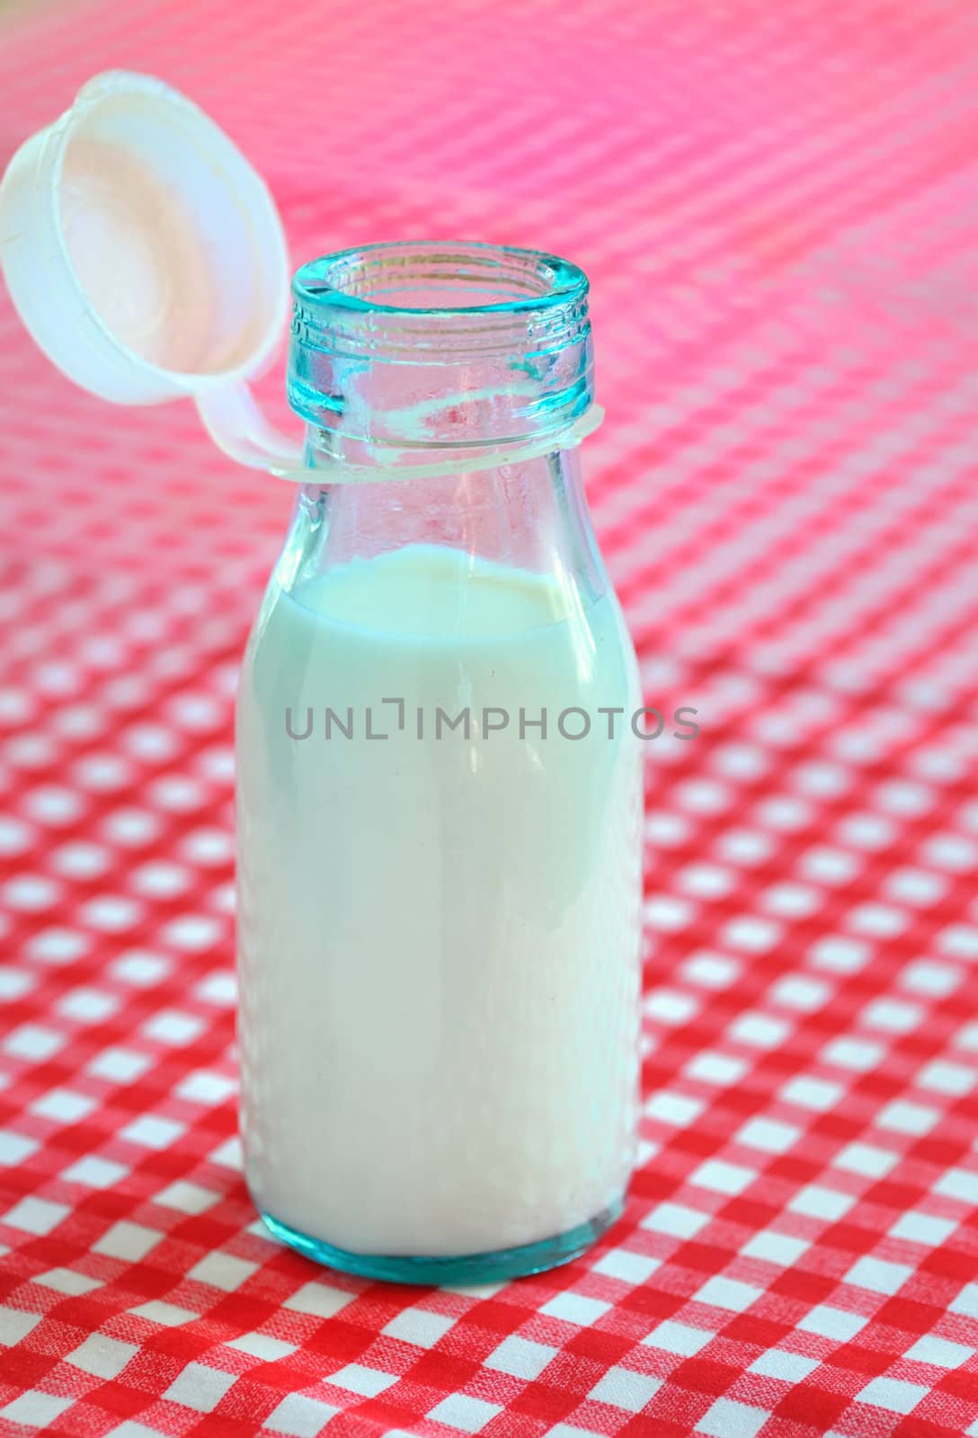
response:
M380 244L293 282L292 525L237 709L242 1122L270 1229L488 1281L621 1211L640 706L577 439L587 279Z

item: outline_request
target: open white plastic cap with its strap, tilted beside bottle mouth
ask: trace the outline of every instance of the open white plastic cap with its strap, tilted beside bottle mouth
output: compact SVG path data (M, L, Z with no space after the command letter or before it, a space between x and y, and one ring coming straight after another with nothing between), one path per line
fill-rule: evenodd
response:
M246 381L285 332L289 263L262 178L184 95L111 70L0 183L0 262L49 360L116 404L193 395L220 447L299 464Z

